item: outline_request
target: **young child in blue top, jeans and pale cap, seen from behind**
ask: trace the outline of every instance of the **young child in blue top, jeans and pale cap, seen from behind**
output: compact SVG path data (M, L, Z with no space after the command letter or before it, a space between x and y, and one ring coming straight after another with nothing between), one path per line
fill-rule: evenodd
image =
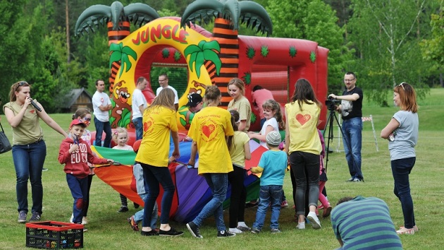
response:
M269 205L271 205L271 233L280 232L278 219L283 179L287 168L287 154L279 150L279 143L280 134L277 131L268 133L266 144L270 150L262 154L259 166L251 169L253 173L262 173L259 205L257 206L256 221L252 227L252 233L254 234L261 232Z

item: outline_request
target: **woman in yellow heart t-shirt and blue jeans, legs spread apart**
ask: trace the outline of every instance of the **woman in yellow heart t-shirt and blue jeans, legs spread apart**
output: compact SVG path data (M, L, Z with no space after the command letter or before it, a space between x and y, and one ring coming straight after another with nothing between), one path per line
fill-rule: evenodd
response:
M195 157L199 151L199 175L202 175L213 193L211 201L206 203L202 211L187 228L192 236L203 238L199 227L204 220L214 215L217 237L231 237L235 234L226 230L223 222L222 203L225 201L228 185L228 172L233 171L226 136L233 136L231 114L226 109L217 107L221 102L221 90L216 85L210 85L205 90L206 107L195 114L192 119L188 137L192 138L192 148L189 165L195 165Z

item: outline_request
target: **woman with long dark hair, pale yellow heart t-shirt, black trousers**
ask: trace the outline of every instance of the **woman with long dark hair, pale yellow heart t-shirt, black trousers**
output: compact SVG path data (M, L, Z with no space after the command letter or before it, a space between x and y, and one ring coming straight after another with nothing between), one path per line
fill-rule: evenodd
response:
M285 151L290 154L290 167L296 182L295 205L299 229L305 228L307 183L307 219L312 222L314 229L321 228L315 213L319 197L319 155L322 150L316 129L320 112L321 102L316 99L312 85L306 79L297 80L291 102L285 105Z

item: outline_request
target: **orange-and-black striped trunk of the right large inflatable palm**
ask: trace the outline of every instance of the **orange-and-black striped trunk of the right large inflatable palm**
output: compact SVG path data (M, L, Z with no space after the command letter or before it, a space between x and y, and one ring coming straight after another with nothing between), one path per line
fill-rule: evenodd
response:
M228 94L228 82L235 77L238 77L239 68L239 40L238 30L233 30L229 20L223 18L216 18L214 20L214 34L211 40L216 40L221 46L222 66L219 75L216 75L216 67L211 61L206 61L205 68L211 78L211 83L216 85L222 93L221 105L224 109L227 108L231 100Z

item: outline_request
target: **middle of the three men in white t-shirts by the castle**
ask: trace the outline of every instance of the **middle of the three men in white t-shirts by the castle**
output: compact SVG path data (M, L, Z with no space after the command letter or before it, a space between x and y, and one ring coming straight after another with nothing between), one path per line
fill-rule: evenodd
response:
M142 115L145 108L147 108L147 100L142 94L142 90L147 88L147 78L140 76L137 79L136 88L132 92L132 123L136 129L136 141L142 139L143 136L143 125L142 125Z

